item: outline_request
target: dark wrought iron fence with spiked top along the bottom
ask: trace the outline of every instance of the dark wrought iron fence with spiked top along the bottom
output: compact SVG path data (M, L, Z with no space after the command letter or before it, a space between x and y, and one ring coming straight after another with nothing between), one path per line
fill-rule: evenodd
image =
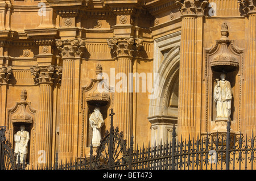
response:
M133 136L129 149L122 132L113 128L113 110L110 131L106 132L93 155L75 161L59 161L56 153L53 165L38 166L40 170L246 170L255 169L255 136L230 134L228 122L226 134L206 134L196 138L178 140L176 127L172 128L172 140L159 145L148 143L134 146ZM135 148L134 148L135 147ZM24 162L24 161L23 161ZM16 169L24 169L18 158Z

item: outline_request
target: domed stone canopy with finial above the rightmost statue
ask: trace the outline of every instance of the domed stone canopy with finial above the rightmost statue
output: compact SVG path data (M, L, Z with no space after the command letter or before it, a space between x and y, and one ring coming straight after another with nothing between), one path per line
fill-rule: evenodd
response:
M228 38L228 24L221 26L221 39L216 41L216 45L208 50L209 64L214 71L234 71L240 65L241 49L234 47L234 41Z

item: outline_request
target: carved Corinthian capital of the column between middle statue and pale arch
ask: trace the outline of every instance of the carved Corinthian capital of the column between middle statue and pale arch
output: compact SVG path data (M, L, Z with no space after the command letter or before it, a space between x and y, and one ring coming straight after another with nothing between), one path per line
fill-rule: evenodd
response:
M143 39L114 37L108 40L108 45L112 49L114 57L138 56L138 53L143 49Z

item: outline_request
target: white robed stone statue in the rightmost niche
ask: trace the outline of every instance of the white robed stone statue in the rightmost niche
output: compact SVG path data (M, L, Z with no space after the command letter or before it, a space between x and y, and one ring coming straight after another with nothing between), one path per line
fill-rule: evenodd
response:
M226 81L226 74L221 73L221 80L216 79L214 87L214 102L216 102L216 120L228 121L231 115L232 88L229 81Z

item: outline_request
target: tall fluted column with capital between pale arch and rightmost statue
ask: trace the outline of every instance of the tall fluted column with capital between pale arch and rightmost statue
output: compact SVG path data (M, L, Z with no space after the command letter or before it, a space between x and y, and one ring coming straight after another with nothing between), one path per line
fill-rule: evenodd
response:
M179 75L179 137L200 133L203 15L208 1L176 1L182 14Z

